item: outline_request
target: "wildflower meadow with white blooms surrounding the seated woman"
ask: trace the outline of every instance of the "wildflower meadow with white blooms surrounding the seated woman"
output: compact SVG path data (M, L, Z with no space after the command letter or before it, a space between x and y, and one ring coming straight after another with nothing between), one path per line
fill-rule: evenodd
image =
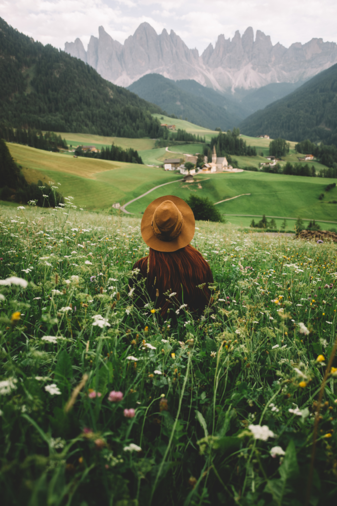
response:
M140 219L65 202L0 207L2 504L335 503L336 245L197 222L213 297L164 321Z

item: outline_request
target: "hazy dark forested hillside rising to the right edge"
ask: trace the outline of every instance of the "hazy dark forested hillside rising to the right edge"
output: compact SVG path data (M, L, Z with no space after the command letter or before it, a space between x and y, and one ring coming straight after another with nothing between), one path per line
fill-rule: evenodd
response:
M240 123L246 135L337 143L337 65Z

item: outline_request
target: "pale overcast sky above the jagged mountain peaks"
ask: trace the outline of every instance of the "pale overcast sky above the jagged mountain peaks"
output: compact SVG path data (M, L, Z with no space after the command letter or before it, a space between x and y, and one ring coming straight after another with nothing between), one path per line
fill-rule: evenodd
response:
M248 26L289 47L313 37L337 42L336 0L0 0L0 17L43 44L64 49L79 37L86 49L98 27L124 43L143 21L174 30L201 53L220 33Z

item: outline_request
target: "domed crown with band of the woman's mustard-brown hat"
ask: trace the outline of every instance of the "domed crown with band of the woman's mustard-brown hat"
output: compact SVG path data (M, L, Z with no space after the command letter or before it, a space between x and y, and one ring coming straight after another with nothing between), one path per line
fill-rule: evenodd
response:
M182 224L182 214L172 200L164 200L153 214L152 228L162 241L175 239L181 232Z

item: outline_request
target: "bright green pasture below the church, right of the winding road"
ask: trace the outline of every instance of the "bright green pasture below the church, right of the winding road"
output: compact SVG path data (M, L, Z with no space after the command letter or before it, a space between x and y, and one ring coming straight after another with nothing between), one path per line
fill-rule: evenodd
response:
M237 174L204 174L198 175L195 179L197 181L194 183L172 184L168 193L188 198L193 192L201 197L209 197L212 202L251 193L251 195L228 200L217 206L220 212L226 215L265 214L289 218L301 216L337 222L337 204L322 203L318 200L319 194L324 192L326 185L332 181L329 179L249 171ZM154 190L130 204L127 210L133 213L142 212L152 200L165 193L165 187ZM337 200L337 189L330 190L325 198Z

